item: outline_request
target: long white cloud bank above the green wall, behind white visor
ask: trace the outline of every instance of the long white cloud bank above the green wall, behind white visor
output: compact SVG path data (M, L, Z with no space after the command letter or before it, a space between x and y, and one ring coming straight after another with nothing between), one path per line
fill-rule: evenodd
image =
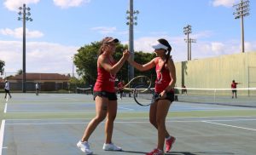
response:
M203 35L207 34L207 35ZM192 43L192 60L194 59L203 59L209 57L216 57L220 55L232 55L241 52L241 43L240 40L227 40L224 42L219 41L203 41L203 37L209 37L212 33L199 32L195 33L197 36L197 43ZM183 61L188 60L188 48L187 43L184 42L183 36L178 37L168 37L160 36L166 38L169 43L172 45L172 58L174 61ZM160 37L140 37L134 40L134 49L135 51L143 51L151 53L154 51L151 44L154 43ZM128 44L128 41L122 42ZM256 41L246 42L245 51L253 52L256 51Z

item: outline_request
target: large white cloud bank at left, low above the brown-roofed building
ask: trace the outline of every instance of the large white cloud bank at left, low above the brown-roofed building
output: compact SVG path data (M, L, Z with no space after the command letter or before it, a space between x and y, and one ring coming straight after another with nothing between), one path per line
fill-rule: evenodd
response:
M71 73L72 56L79 47L59 43L27 42L26 72ZM0 41L1 60L5 61L5 72L22 69L22 42ZM9 73L10 74L10 73Z

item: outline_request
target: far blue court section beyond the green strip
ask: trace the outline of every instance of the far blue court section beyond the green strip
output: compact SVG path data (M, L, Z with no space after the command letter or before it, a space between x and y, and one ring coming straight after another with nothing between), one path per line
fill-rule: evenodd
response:
M17 96L19 100L12 103L9 100L7 112L94 112L95 102L91 95L40 95L25 98ZM119 101L119 112L148 112L149 106L138 106L133 98L123 98ZM174 101L171 112L213 111L252 109L252 107L221 106L216 104L201 104ZM255 107L256 109L256 107Z

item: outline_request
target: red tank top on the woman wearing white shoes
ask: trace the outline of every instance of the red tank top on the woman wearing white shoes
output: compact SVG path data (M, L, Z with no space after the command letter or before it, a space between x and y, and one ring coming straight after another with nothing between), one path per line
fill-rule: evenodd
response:
M109 60L110 65L114 65L114 62ZM115 75L112 75L110 72L107 72L102 67L97 67L97 79L94 86L94 91L107 91L109 93L114 93L114 81Z

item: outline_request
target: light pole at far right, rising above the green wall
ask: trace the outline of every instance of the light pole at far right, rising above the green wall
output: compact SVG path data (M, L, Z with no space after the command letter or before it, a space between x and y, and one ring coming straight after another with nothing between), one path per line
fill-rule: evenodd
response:
M244 53L244 29L243 29L243 17L249 15L249 1L243 2L241 0L240 3L233 5L236 8L236 11L233 13L235 15L235 19L241 18L241 53Z

